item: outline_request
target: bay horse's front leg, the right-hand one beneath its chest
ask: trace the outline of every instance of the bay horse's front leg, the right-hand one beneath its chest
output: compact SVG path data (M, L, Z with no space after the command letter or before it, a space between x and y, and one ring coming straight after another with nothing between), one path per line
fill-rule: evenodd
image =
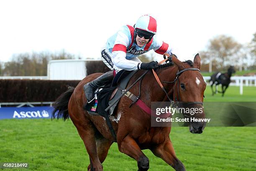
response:
M166 163L172 166L175 171L186 171L185 166L176 157L172 142L169 138L164 143L152 148L151 151L155 156L160 157Z

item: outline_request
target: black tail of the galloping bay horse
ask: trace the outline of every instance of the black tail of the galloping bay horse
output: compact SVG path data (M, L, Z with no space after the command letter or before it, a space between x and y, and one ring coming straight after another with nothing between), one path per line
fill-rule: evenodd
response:
M68 111L68 105L69 105L69 99L74 92L74 87L68 87L68 90L64 93L62 93L56 101L53 103L54 110L52 112L51 118L55 119L57 116L57 119L63 118L63 120L66 120L69 118L69 111ZM55 115L55 113L57 115Z

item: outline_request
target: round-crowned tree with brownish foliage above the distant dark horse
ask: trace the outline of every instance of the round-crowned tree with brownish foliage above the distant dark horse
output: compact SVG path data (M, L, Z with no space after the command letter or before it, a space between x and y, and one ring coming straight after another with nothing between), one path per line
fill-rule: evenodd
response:
M238 52L241 50L242 45L236 42L232 37L220 35L209 41L204 54L203 62L210 63L215 61L219 69L233 64L234 59L238 59Z

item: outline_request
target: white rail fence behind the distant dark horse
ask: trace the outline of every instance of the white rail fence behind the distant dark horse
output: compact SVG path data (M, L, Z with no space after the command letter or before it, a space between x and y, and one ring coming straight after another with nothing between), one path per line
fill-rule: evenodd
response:
M209 85L210 76L203 77L205 82ZM238 77L234 76L231 77L230 86L239 86L240 87L240 94L243 94L243 86L255 86L256 87L256 77Z

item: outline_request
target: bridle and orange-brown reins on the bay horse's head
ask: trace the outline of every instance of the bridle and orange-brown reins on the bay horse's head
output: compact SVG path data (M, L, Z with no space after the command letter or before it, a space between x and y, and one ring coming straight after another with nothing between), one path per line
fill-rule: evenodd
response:
M167 61L169 58L167 59L164 59L163 61L159 62L159 64L162 64L164 61ZM168 96L164 86L161 84L161 81L159 80L156 72L154 71L154 69L152 69L153 71L153 74L156 78L156 81L158 82L158 84L160 85L160 87L164 90L166 96L168 97L169 101L171 103L174 103L174 102L181 102L181 98L180 98L180 94L179 94L179 76L185 72L185 71L199 71L200 72L200 69L197 69L197 68L186 68L186 69L182 69L181 71L178 70L177 74L176 74L176 78L172 81L172 82L165 82L165 81L162 81L162 82L165 82L165 83L174 83L175 85L175 82L177 81L177 91L178 91L178 97L179 97L179 101L177 99L177 97L174 97L174 100L171 100L170 97ZM175 87L174 87L174 90L175 90ZM174 91L173 91L174 92ZM203 102L182 102L182 104L185 104L185 105L195 105L195 104L199 104L199 105L203 105Z

